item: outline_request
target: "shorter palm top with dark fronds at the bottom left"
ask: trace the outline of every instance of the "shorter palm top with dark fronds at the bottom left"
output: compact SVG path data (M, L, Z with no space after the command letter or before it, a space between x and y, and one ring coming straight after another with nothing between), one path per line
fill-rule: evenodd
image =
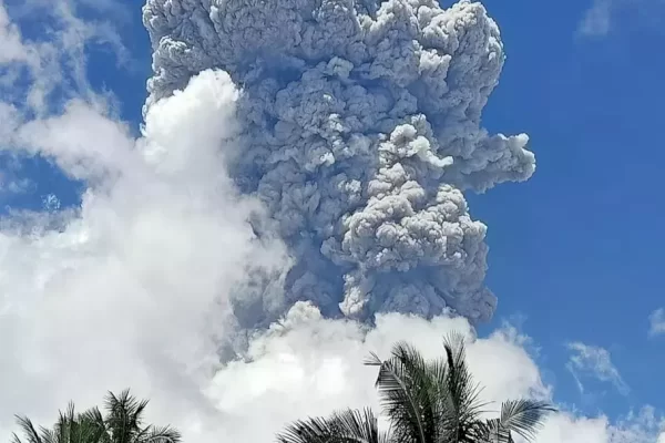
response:
M104 399L105 416L98 408L75 413L73 403L60 412L53 429L39 430L25 416L17 416L24 441L16 433L12 443L180 443L181 434L171 426L143 424L147 400L137 401L125 390L109 392Z

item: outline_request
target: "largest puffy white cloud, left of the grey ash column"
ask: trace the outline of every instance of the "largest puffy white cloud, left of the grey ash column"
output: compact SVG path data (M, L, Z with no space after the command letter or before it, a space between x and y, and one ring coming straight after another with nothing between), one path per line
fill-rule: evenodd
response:
M232 287L249 265L286 262L279 244L256 239L247 218L257 205L221 168L234 97L226 74L204 73L151 110L136 143L82 103L18 130L98 185L59 231L0 233L0 427L13 413L49 416L70 396L90 403L124 385L165 391L183 411L201 395Z

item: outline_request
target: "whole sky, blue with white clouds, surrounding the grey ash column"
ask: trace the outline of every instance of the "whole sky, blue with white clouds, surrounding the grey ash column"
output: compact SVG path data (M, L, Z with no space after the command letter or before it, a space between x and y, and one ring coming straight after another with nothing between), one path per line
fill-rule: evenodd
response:
M472 368L493 399L554 400L563 413L542 443L661 443L665 4L483 4L508 59L482 124L528 133L536 169L464 192L489 227L485 282L498 298L470 338ZM364 352L406 334L432 353L453 327L473 336L460 319L399 315L368 332L296 305L248 339L248 362L219 368L214 341L235 330L211 306L233 297L213 295L250 286L252 266L280 275L289 244L254 239L246 219L259 202L213 166L243 155L228 142L233 81L206 72L144 119L151 53L136 2L0 0L0 431L13 413L48 420L47 406L131 383L157 419L193 423L187 436L264 441L243 426L247 410L268 418L289 390L294 413L362 405L371 374L352 361ZM110 368L90 362L100 349ZM267 427L280 419L291 416Z

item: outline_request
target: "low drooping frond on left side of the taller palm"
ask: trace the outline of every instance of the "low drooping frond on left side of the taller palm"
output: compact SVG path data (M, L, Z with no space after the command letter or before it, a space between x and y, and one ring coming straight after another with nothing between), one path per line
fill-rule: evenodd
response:
M345 410L330 418L299 420L277 435L278 443L386 443L378 420L371 412Z

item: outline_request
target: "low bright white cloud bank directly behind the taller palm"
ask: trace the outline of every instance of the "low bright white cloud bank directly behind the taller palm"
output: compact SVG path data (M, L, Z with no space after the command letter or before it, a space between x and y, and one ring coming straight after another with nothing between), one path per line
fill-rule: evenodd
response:
M326 414L344 406L376 408L375 371L361 365L369 351L386 354L392 342L407 339L427 357L442 352L441 338L451 330L466 331L469 362L487 389L484 399L546 398L535 362L525 352L523 338L510 329L474 340L464 320L436 318L426 321L401 315L381 316L365 332L352 322L323 320L304 306L294 308L287 328L258 337L249 362L233 363L217 373L208 395L222 416L221 435L227 440L268 442L283 422L309 414ZM306 320L298 320L305 318ZM498 408L498 404L495 404ZM247 426L260 416L260 426ZM542 430L540 443L614 443L617 429L606 418L553 416Z

